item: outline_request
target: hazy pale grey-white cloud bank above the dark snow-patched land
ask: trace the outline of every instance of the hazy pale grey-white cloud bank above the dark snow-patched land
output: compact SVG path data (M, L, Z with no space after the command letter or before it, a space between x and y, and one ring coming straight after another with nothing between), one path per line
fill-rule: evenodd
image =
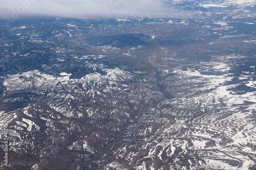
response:
M161 0L0 0L0 16L156 16Z

